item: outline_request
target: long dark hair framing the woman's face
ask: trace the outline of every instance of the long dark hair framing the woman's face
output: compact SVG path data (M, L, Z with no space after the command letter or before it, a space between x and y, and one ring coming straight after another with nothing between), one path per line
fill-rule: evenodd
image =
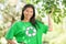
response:
M24 20L24 14L23 14L23 12L24 12L24 10L25 10L26 8L32 8L32 9L33 9L33 16L30 19L30 22L32 23L32 25L35 25L35 23L36 23L36 22L35 22L35 9L34 9L33 4L25 4L25 6L23 7L21 20Z

